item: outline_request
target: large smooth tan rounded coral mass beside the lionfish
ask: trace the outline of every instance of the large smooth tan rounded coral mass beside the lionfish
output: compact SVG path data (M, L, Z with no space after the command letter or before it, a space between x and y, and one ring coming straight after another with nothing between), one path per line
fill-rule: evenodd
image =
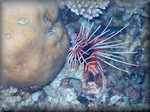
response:
M69 47L55 1L10 0L1 8L2 84L23 88L52 81Z

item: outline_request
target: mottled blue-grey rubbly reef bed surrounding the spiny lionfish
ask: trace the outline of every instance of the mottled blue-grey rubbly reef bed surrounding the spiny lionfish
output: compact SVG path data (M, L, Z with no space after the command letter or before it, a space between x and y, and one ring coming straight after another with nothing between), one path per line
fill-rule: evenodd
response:
M83 75L82 65L78 66L77 69L69 69L67 63L65 63L57 77L38 91L28 92L12 86L9 88L0 86L0 111L148 112L150 110L149 6L150 0L111 0L109 8L107 8L107 11L103 11L102 16L89 21L89 26L94 23L92 30L89 28L91 33L101 24L101 28L93 35L93 39L106 28L110 18L112 18L112 21L108 25L108 30L106 30L108 34L117 32L129 23L128 27L119 35L111 38L110 42L118 40L123 43L130 42L125 45L125 48L120 48L120 50L110 48L110 51L134 52L133 54L122 54L121 57L123 61L135 63L138 66L127 66L102 58L112 65L127 70L128 73L112 69L111 66L100 61L104 76L97 74L93 78L93 75L90 75L89 72ZM88 30L88 21L83 16L72 13L67 7L64 7L60 14L70 40L79 34L81 26ZM47 21L47 25L51 26L48 17L45 16L45 21ZM23 21L19 22L22 23ZM86 32L87 34L87 31L83 31L83 29L82 33ZM48 35L51 34L51 30L47 29L47 33ZM90 35L92 35L91 33ZM107 38L102 38L102 40ZM89 80L85 83L87 78Z

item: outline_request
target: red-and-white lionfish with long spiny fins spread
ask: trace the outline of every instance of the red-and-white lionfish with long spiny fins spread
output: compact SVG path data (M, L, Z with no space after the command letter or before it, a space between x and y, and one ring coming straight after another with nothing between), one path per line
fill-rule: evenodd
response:
M95 76L99 72L103 73L101 62L117 70L128 72L121 67L115 66L107 60L115 61L125 65L137 66L136 64L128 63L123 60L124 54L131 54L134 52L115 52L115 50L110 50L114 48L125 48L124 45L127 45L129 42L131 42L121 42L121 40L110 41L110 39L122 32L129 25L126 24L120 30L111 32L110 29L108 29L111 21L112 19L97 36L95 36L95 34L101 28L101 25L99 25L93 32L92 28L94 26L94 22L91 24L91 26L89 26L88 21L87 27L81 25L78 35L72 40L73 45L70 47L69 54L67 56L67 64L69 67L76 68L79 65L83 65L84 73L91 72Z

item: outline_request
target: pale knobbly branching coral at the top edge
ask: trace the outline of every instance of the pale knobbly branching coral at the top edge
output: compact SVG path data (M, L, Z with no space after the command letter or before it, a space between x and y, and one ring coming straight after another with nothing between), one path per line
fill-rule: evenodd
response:
M60 7L67 6L77 15L82 15L89 20L102 14L110 3L109 0L62 0L58 2Z

